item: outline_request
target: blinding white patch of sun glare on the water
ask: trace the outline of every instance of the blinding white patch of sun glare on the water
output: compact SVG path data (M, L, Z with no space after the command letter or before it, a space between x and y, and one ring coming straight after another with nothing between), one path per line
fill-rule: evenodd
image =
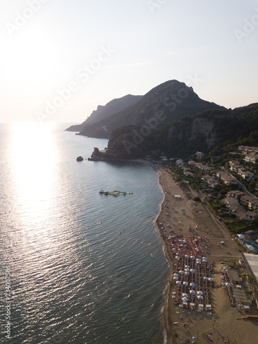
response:
M41 211L53 189L56 151L51 127L36 123L15 123L11 138L14 187L22 206Z

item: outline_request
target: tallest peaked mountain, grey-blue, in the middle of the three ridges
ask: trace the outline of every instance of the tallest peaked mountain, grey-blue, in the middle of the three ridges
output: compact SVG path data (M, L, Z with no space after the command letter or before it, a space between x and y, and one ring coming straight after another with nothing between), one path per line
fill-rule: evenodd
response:
M182 116L193 116L206 109L224 108L200 99L193 88L185 83L169 80L151 89L138 103L103 120L86 125L79 135L109 138L114 129L126 125L144 125L160 114L163 116L162 120L158 120L158 126L178 120Z

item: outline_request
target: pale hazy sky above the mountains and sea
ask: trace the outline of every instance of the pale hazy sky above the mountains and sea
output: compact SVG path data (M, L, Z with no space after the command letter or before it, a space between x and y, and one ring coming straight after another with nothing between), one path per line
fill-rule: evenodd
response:
M1 0L0 122L82 122L166 80L256 103L255 0Z

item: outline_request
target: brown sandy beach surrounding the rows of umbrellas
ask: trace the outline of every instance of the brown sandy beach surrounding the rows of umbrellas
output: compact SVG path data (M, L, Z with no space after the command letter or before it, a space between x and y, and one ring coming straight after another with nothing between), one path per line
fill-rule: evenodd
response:
M157 171L165 195L157 226L173 266L176 259L168 239L171 235L206 237L211 246L208 248L208 255L205 255L205 252L204 255L208 262L213 261L211 277L214 282L213 287L210 288L213 310L211 315L208 315L206 310L197 312L195 309L189 312L189 309L175 305L173 293L175 294L177 285L171 277L166 308L167 343L184 343L187 340L189 343L200 344L258 343L258 321L241 319L245 314L234 307L231 308L226 290L222 288L223 266L229 262L232 264L233 261L238 263L241 257L235 240L229 235L224 225L208 211L204 202L193 201L193 197L197 195L195 192L190 190L183 193L178 184L173 181L169 170L161 168ZM180 197L175 197L175 195ZM202 195L198 196L202 197ZM188 230L189 226L193 228L193 231ZM224 244L218 246L217 242L222 240ZM257 315L255 312L255 308L251 308L250 314ZM178 322L178 325L174 325L174 322ZM211 334L212 341L208 340L207 334ZM193 336L196 337L196 341L193 341Z

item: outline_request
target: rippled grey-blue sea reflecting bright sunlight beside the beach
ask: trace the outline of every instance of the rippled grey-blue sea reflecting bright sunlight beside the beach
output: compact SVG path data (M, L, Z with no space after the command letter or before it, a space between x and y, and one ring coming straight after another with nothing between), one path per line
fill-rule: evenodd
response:
M158 174L69 125L0 125L1 343L165 343Z

